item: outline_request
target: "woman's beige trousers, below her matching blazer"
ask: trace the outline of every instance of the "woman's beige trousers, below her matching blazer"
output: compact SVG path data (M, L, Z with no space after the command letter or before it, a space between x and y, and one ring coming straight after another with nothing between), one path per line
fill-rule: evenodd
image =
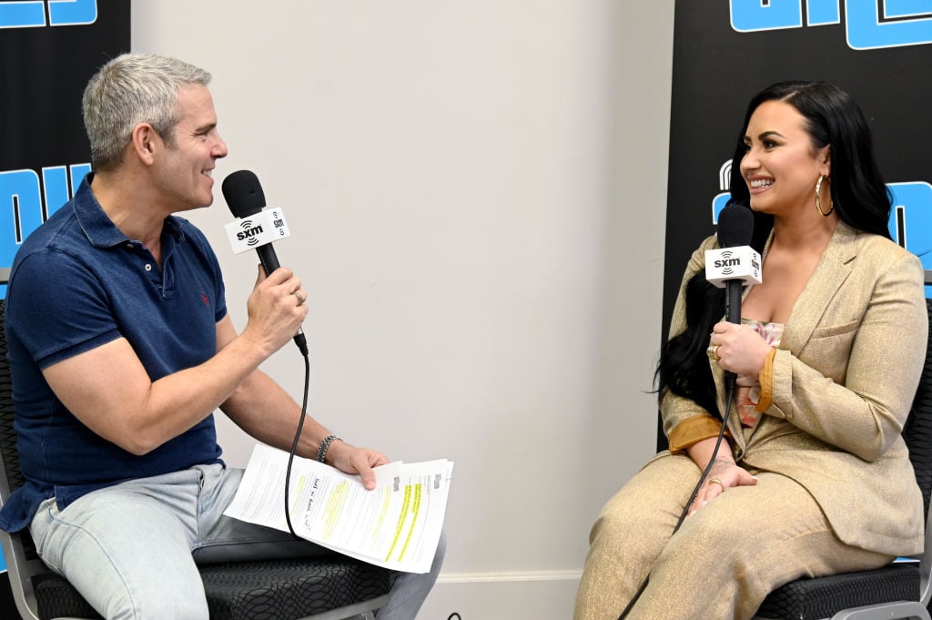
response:
M879 568L889 556L843 544L813 497L786 476L751 472L671 538L701 471L684 455L651 462L602 509L574 620L748 620L777 586L802 576Z

